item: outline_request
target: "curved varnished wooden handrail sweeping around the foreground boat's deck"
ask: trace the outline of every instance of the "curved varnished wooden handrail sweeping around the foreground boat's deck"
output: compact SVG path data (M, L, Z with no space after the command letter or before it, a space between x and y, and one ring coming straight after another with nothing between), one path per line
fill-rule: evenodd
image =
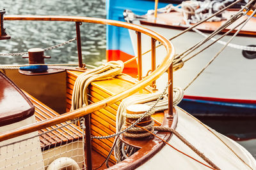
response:
M120 92L114 96L108 97L102 101L97 103L90 104L85 106L84 108L79 108L74 111L70 111L68 113L59 115L58 117L49 118L42 122L36 122L35 124L31 124L25 127L20 127L19 129L15 129L8 132L0 133L0 141L4 141L6 139L15 138L17 136L21 136L23 134L28 134L29 132L38 131L40 129L44 129L46 127L50 127L52 125L60 124L62 122L66 122L68 120L72 120L78 117L84 117L92 113L93 111L100 110L101 108L105 108L108 105L116 103L124 99L125 97L131 96L132 94L138 92L143 89L147 85L150 85L153 81L157 80L159 76L161 76L164 72L168 70L169 78L172 78L172 61L174 58L174 50L173 45L168 41L168 39L164 38L157 32L150 31L144 27L139 25L129 24L125 22L115 21L115 20L107 20L103 18L89 18L89 17L63 17L63 16L20 16L20 15L9 15L5 16L4 20L44 20L44 21L67 21L67 22L91 22L95 24L104 24L104 25L114 25L118 27L124 27L127 29L131 29L137 32L141 32L150 36L151 38L156 39L166 48L167 55L164 57L163 62L157 67L152 74L143 78L138 83L132 85L132 87L124 92ZM169 90L170 92L170 90ZM170 95L169 95L170 96Z

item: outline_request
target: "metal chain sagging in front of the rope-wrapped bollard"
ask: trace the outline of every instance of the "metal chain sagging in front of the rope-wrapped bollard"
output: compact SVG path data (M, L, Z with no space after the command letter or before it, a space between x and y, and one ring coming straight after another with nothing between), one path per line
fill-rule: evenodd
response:
M132 127L134 127L135 125L137 125L144 117L146 117L148 115L148 112L150 112L155 106L156 104L160 101L160 99L164 96L166 90L168 89L168 87L171 85L171 83L168 83L166 85L166 87L164 88L163 90L163 93L158 97L156 103L154 103L154 105L149 109L147 110L145 113L143 113L143 115L138 119L136 120L136 122L134 122L133 124L131 124L129 127L125 128L123 131L119 131L119 132L116 132L115 134L111 134L111 135L108 135L108 136L93 136L92 139L108 139L108 138L113 138L115 136L118 136L124 132L127 132L129 129L131 129Z

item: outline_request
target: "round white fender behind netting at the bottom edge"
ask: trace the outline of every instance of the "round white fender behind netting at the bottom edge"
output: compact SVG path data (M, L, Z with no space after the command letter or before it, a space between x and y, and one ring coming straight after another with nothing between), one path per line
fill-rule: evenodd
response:
M60 157L51 162L47 170L78 170L80 167L74 159L68 157Z

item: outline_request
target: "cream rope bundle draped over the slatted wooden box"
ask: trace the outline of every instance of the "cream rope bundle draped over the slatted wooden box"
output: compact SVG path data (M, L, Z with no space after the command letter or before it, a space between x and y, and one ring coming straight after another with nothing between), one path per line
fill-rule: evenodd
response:
M123 69L124 63L118 60L110 61L100 67L80 74L74 84L72 106L70 110L76 110L82 108L84 105L88 105L87 92L88 86L92 81L108 78L109 76L116 76L122 73Z

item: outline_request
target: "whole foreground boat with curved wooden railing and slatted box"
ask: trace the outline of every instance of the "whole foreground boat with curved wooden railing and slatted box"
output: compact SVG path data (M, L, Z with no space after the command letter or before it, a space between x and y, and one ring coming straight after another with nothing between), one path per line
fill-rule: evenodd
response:
M164 169L255 169L255 159L242 146L213 131L181 108L173 107L173 101L177 104L180 97L173 97L173 93L177 92L173 92L172 83L166 85L168 97L164 92L156 92L154 81L164 72L168 71L168 81L172 82L172 62L175 55L173 45L160 34L138 25L100 18L6 16L4 20L76 23L79 67L53 67L44 64L44 53L38 48L28 52L29 68L13 69L13 66L1 66L1 104L6 108L1 110L0 114L0 162L3 165L1 169L155 169L159 163ZM154 71L145 78L142 78L142 63L139 59L138 80L122 74L124 64L120 61L86 69L81 60L81 46L79 47L80 22L132 29L140 32L138 39L140 34L147 34L163 44L166 57L159 67L153 66ZM138 43L138 51L140 47ZM154 59L154 56L152 58ZM30 66L47 66L47 69L35 71L35 68ZM93 81L88 83L83 80ZM149 96L154 96L157 101L149 100ZM131 129L129 121L134 125L140 122L136 120L132 123L134 120L126 120L128 127L118 133L116 127L119 124L116 125L116 120L119 119L116 118L116 112L121 110L118 109L121 101L131 99L131 103L140 103L136 101L137 97L144 97L143 101L153 101L153 105L151 103L129 109L124 107L123 110L127 113L130 111L130 115L124 113L127 118L135 112L140 113L141 119L146 118L148 113L154 113L154 106L162 98L168 99L168 105L164 105L163 111L153 114L152 119L147 115L148 120L145 120L158 126L151 127L150 130L158 131L155 132L156 136L143 140L120 136L125 143L120 148L124 153L121 160L116 162L116 157L111 152L112 146L115 146L113 137L117 136L117 139L126 132L124 129ZM43 100L47 104L42 103ZM67 113L58 113L63 109L67 110ZM164 144L164 141L169 146ZM170 158L173 160L172 164ZM104 163L104 160L109 163L101 167L100 164Z

